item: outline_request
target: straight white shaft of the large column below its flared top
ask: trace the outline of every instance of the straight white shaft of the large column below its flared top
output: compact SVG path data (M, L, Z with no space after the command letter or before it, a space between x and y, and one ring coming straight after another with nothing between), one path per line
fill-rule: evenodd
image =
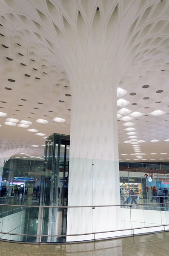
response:
M85 88L72 95L69 206L120 203L116 97L111 86ZM68 209L67 234L116 230L117 226L115 207ZM88 239L93 236L67 241Z

